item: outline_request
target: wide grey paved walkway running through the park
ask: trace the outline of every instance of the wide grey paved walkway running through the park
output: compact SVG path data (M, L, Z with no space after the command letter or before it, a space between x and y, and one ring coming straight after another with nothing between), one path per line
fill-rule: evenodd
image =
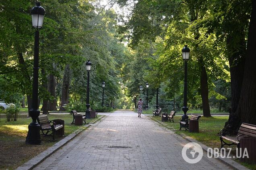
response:
M35 170L221 170L230 169L206 154L196 164L182 158L188 141L144 115L128 110L105 117ZM164 147L163 147L164 146Z

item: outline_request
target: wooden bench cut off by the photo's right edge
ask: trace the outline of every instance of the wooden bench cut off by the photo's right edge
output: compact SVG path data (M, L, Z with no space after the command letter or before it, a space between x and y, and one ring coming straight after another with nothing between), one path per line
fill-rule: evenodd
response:
M233 134L233 135L227 135L227 134ZM224 145L228 145L228 146L237 145L237 148L240 148L241 138L246 138L246 137L256 138L256 125L242 123L238 131L234 131L230 129L222 129L220 131L221 148L223 148ZM228 144L223 139L231 143Z

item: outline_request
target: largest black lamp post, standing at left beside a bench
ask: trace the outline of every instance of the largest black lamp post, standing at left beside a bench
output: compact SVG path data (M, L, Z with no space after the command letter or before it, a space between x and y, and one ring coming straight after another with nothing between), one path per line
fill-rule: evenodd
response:
M27 144L41 144L40 125L37 123L37 117L40 114L38 109L38 70L39 70L39 29L43 26L45 10L36 2L36 6L31 9L32 26L35 28L35 45L34 45L34 67L33 67L33 91L32 91L32 108L29 115L32 122L29 124L27 133Z

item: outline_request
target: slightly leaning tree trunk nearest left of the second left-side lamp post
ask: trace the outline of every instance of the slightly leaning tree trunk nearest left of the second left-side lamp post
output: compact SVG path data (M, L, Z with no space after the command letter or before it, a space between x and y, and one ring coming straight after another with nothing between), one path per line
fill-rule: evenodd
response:
M63 77L63 83L62 83L62 95L61 95L61 105L59 111L65 111L65 108L63 107L64 104L68 104L68 89L70 85L70 66L66 65L64 70L64 77Z

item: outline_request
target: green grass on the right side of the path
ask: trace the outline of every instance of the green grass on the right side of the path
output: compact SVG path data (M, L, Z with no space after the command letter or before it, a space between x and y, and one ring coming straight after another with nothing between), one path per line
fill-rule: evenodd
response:
M151 119L155 121L161 121L161 117L159 116L149 117L151 117ZM221 142L219 139L219 131L223 129L225 122L228 120L228 116L201 117L199 119L199 133L190 133L188 132L188 130L185 131L184 128L180 130L180 118L181 115L175 115L174 123L170 121L162 123L166 127L173 130L176 134L185 134L186 136L190 136L191 138L194 138L195 140L201 142L202 144L205 144L206 146L209 146L210 148L220 148ZM235 146L233 145L231 148L233 148L231 154L235 155ZM238 159L236 159L235 161L239 162ZM247 168L256 170L255 164L247 164L242 162L239 163L246 166Z

